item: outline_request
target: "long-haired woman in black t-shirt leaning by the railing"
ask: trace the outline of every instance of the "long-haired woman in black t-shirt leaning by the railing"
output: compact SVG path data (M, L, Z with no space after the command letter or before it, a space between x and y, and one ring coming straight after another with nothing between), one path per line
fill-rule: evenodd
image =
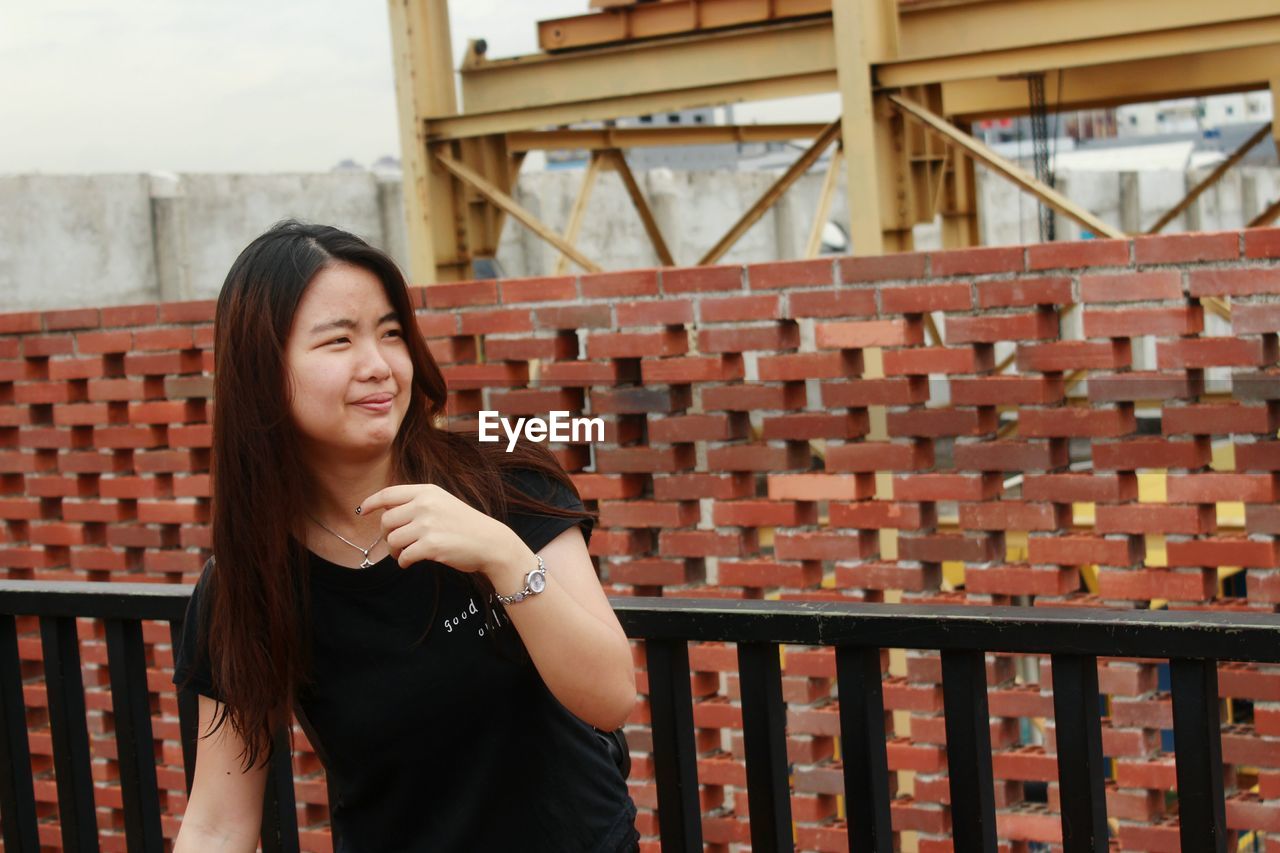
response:
M214 325L214 558L174 667L202 734L175 850L255 849L291 711L339 853L637 849L593 730L631 713L631 649L556 457L438 424L402 274L337 228L250 243Z

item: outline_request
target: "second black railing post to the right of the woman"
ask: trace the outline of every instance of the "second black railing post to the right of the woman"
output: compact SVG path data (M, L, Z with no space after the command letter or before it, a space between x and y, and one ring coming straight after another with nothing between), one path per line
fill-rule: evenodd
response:
M739 643L746 790L751 849L787 853L791 838L791 785L787 763L787 707L782 666L774 643Z

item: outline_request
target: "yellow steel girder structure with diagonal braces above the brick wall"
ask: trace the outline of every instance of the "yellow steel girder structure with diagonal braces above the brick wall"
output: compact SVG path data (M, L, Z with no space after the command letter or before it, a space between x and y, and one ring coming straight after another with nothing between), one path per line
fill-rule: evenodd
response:
M675 263L627 167L625 151L636 146L812 140L699 260L712 264L832 146L810 254L841 165L858 255L910 250L913 225L938 215L945 246L975 245L975 163L1097 236L1120 236L970 133L979 119L1028 114L1028 77L1057 95L1061 111L1270 88L1280 119L1277 0L652 0L540 22L541 51L531 55L488 59L472 41L457 69L447 0L389 0L389 12L410 257L421 283L472 278L472 260L497 252L507 215L564 264L599 272L573 242L607 168L622 177L658 257ZM827 126L573 128L819 92L840 93ZM1247 147L1267 136L1280 143L1277 127L1254 134L1156 228ZM511 195L538 149L591 151L564 233ZM1277 215L1280 201L1249 224Z

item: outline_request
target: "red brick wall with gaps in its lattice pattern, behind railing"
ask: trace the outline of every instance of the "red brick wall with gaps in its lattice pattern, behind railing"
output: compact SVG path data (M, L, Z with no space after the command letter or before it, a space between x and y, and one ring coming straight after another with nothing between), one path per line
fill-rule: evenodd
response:
M1120 607L1160 597L1266 612L1280 602L1280 229L415 292L460 421L481 409L605 420L594 471L584 471L591 448L557 452L600 512L591 552L613 593ZM1201 297L1230 302L1230 333L1206 333ZM945 313L945 343L923 310ZM1079 328L1075 313L1084 339L1065 332ZM6 576L195 580L209 546L211 316L209 302L0 315ZM1155 361L1135 366L1142 336L1155 338ZM997 375L1006 348L1012 360ZM1228 368L1234 388L1202 397L1206 368ZM1068 401L1084 369L1088 394ZM1135 400L1158 401L1156 433L1138 434ZM1219 451L1213 467L1224 443L1234 466ZM1068 471L1073 444L1092 470ZM1140 491L1138 474L1152 471L1166 476ZM1243 515L1220 501L1243 502ZM1219 567L1243 573L1220 589ZM177 815L172 654L159 626L147 635L168 739L160 780ZM100 647L88 628L83 637ZM38 644L23 653L38 660ZM99 669L105 654L86 651L86 661ZM704 834L727 849L749 839L735 656L712 644L691 661ZM1052 841L1055 788L1048 808L1024 803L1027 783L1055 779L1047 660L1038 675L1024 665L1020 681L1010 657L988 669L1001 836L1012 849ZM845 849L833 654L788 648L785 674L799 847ZM1149 661L1101 672L1116 758L1108 812L1125 849L1176 849L1158 675ZM87 683L105 684L105 671ZM1224 666L1221 692L1254 702L1233 702L1225 730L1228 821L1280 830L1280 670ZM27 698L38 729L38 683ZM950 849L937 656L899 658L884 698L899 712L890 763L915 774L901 780L896 827L919 833L920 850ZM97 717L106 707L90 701ZM634 717L631 785L652 836L646 713L641 704ZM1041 727L1044 744L1027 745ZM33 752L51 815L47 734ZM95 754L109 756L109 743L96 740ZM303 754L296 766L312 774L298 794L314 825L325 815L319 763ZM102 804L119 802L113 772L97 774ZM45 839L56 843L51 827ZM308 831L305 844L328 849L328 835ZM123 838L104 847L123 849Z

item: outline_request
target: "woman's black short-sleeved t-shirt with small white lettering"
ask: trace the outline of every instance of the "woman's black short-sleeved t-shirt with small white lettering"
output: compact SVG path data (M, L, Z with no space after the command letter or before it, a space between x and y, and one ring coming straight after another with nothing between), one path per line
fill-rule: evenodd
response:
M511 476L549 503L582 506L535 471ZM589 519L512 511L507 524L534 552L575 524L591 535ZM210 571L188 605L173 680L191 672L191 689L218 698L207 660L196 661ZM310 571L314 685L296 710L339 797L338 853L634 849L635 804L595 731L527 657L495 647L522 647L502 605L492 602L486 625L467 578L439 562L347 569L311 555Z

